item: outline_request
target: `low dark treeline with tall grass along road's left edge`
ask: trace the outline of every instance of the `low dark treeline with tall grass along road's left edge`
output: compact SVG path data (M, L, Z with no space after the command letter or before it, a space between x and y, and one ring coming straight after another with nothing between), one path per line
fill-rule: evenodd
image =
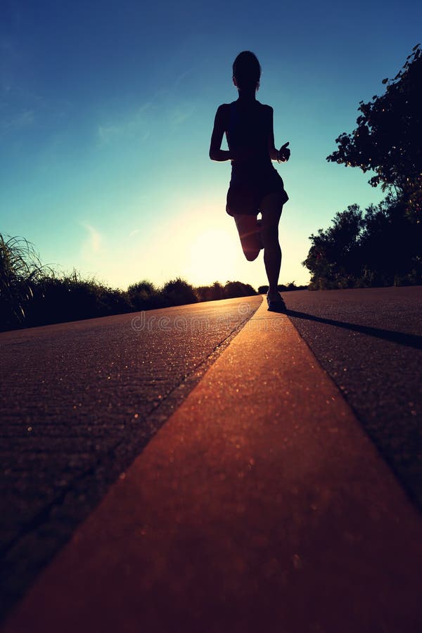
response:
M292 282L281 290L297 288ZM92 319L141 310L186 305L200 301L248 297L267 292L249 283L215 281L195 288L184 279L162 287L151 281L134 283L127 290L110 288L96 279L84 279L77 271L58 275L39 261L24 238L0 234L0 330Z

